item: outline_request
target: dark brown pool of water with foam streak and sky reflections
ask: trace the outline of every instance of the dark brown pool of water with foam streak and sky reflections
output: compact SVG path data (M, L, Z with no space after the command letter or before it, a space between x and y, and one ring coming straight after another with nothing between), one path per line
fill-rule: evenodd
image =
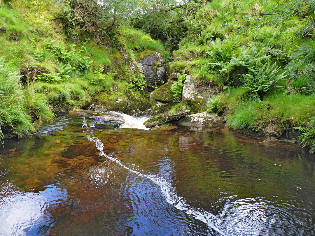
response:
M314 235L314 155L60 113L1 147L0 235Z

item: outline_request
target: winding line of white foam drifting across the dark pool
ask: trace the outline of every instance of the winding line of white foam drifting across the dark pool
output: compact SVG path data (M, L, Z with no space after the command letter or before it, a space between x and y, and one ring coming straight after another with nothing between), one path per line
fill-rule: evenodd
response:
M210 212L207 212L207 211L204 211L202 209L195 208L195 207L192 207L191 205L189 205L186 202L186 200L184 200L182 197L179 197L176 195L175 191L172 190L171 184L167 183L167 181L164 178L159 177L159 176L142 174L139 171L135 171L135 170L130 169L129 167L125 166L123 163L121 163L120 160L118 160L118 159L116 159L116 158L114 158L108 154L105 154L103 151L103 148L104 148L103 142L100 139L96 138L93 135L92 131L88 131L88 129L86 129L86 131L84 131L84 127L88 128L88 124L87 124L85 119L83 120L83 125L82 125L83 132L86 134L89 141L95 142L97 149L100 151L100 156L105 156L107 159L114 161L119 166L123 167L124 169L128 170L131 173L134 173L134 174L136 174L142 178L146 178L146 179L151 180L153 183L157 184L160 187L161 193L164 195L165 200L169 204L173 205L178 210L185 211L187 215L191 215L195 219L204 222L205 224L208 225L209 228L214 229L218 233L225 235L220 229L218 229L214 225L213 221L217 220L217 217L215 215L211 214Z

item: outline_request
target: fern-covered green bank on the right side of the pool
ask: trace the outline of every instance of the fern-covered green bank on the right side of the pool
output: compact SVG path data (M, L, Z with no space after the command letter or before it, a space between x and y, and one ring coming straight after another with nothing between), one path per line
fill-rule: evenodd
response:
M235 130L280 136L301 126L308 137L315 4L215 0L198 9L171 66L212 88L207 110L223 114Z

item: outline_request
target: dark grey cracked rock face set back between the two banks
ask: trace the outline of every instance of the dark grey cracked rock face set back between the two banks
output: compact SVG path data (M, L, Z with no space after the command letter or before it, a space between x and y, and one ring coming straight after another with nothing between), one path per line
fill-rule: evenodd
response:
M163 84L166 74L164 58L161 53L149 53L139 57L137 62L141 63L144 68L145 81L149 91L153 91Z

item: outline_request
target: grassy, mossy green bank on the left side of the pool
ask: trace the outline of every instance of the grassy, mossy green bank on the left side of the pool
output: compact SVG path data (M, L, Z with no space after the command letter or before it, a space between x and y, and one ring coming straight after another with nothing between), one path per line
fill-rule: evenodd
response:
M117 7L115 20L93 0L0 4L0 139L4 130L19 137L35 132L38 124L52 121L52 107L102 101L123 110L125 105L115 104L123 98L130 110L146 108L144 75L131 73L129 64L134 52L167 53L150 35L120 28L123 7L115 4L106 9Z

